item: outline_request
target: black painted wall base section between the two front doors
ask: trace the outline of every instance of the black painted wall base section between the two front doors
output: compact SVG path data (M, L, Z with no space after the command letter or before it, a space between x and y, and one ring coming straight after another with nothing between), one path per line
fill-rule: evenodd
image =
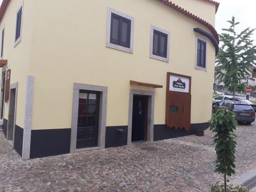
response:
M107 126L105 148L127 145L127 130L128 126Z

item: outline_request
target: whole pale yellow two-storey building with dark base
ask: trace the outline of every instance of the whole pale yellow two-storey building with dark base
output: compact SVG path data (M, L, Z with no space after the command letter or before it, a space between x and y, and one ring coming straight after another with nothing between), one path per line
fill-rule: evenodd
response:
M211 0L4 0L8 142L30 159L206 128L218 7Z

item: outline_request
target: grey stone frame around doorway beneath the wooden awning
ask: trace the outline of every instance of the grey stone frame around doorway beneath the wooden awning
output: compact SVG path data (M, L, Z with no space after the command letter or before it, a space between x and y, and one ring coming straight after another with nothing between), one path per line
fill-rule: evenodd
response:
M133 97L134 95L148 96L147 98L147 130L146 141L154 141L154 112L155 112L155 92L143 90L130 90L129 98L129 118L128 118L128 132L127 145L132 144L132 129L133 129Z

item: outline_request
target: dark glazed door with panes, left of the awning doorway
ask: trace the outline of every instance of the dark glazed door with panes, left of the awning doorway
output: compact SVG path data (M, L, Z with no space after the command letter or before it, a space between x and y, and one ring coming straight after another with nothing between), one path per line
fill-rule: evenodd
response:
M99 93L80 90L76 148L98 146Z

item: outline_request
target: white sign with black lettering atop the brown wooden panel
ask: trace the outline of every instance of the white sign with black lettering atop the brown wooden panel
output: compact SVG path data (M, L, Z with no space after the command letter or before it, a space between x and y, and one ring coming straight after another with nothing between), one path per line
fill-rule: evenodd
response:
M170 75L169 90L189 93L189 78Z

